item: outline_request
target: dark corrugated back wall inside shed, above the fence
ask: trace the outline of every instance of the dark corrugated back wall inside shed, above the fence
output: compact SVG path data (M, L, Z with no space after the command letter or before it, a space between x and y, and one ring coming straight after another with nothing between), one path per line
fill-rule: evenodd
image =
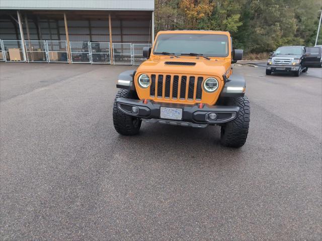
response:
M25 19L24 36L28 40ZM112 40L115 43L151 43L148 20L112 20ZM64 21L28 19L30 40L66 40ZM91 26L91 27L90 27ZM108 21L68 21L70 41L109 41ZM18 24L10 19L0 20L0 39L21 39Z

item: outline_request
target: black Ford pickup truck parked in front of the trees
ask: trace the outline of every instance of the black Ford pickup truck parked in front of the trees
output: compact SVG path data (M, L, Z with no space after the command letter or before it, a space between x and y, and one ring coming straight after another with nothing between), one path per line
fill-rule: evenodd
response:
M306 72L305 66L305 47L304 46L283 46L271 53L267 61L266 74L275 72L293 73L300 76L301 72Z

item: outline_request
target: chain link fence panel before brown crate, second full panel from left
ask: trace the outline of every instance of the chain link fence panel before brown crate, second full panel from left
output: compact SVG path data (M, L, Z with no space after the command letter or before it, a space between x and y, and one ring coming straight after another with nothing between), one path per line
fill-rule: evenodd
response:
M27 61L48 62L47 45L45 40L26 40Z

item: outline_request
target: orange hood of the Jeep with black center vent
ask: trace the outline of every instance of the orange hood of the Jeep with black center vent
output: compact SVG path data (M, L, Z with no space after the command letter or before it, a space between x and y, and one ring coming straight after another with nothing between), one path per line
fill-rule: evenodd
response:
M193 64L188 65L187 62L188 64ZM230 71L230 62L230 58L211 58L208 60L203 57L180 56L176 58L153 56L137 68L137 73L195 74L222 78L224 74Z

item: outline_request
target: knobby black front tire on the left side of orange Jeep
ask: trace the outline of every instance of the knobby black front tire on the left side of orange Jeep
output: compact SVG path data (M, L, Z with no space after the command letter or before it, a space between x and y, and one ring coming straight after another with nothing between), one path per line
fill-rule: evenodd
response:
M115 130L124 136L133 136L138 134L141 127L141 119L129 114L125 114L119 110L116 104L116 99L118 97L138 99L136 93L133 91L120 89L117 92L113 105L113 124Z

